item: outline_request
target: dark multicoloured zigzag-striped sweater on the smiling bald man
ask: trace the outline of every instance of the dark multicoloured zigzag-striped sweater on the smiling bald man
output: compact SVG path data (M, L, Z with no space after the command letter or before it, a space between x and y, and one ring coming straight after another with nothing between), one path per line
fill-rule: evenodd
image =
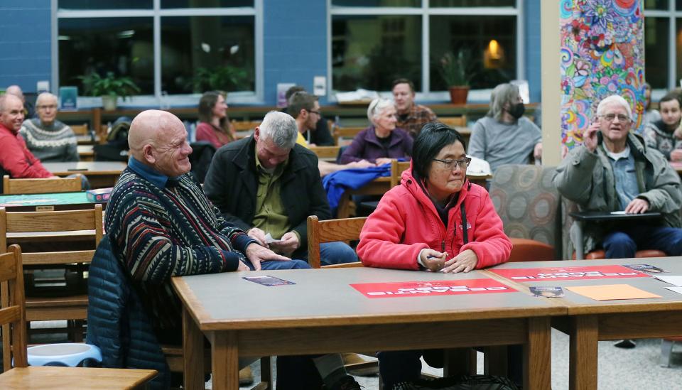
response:
M171 276L234 271L254 242L222 219L189 174L159 188L130 166L109 199L106 227L161 342L181 331Z

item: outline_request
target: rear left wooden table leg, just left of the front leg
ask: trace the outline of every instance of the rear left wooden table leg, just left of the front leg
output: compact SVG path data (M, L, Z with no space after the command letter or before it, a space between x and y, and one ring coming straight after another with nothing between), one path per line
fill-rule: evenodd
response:
M194 318L183 307L183 372L185 389L203 390L204 383L204 335Z

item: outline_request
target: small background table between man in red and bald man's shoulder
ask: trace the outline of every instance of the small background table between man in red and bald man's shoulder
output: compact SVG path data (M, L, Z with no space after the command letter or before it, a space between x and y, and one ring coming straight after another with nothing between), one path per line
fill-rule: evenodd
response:
M87 176L92 188L113 187L119 175L126 168L120 161L80 161L69 163L44 163L43 166L58 176L82 173Z

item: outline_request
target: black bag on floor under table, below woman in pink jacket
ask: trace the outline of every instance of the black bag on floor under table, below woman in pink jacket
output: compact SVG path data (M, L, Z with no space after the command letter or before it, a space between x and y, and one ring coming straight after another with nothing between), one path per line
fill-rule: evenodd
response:
M519 390L509 378L493 375L456 375L438 379L418 379L417 381L400 382L393 390Z

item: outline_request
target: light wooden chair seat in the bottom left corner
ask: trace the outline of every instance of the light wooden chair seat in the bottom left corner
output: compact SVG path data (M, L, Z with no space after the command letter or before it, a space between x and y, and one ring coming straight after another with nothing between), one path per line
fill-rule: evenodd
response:
M0 389L134 389L156 377L153 369L15 367L0 374Z

